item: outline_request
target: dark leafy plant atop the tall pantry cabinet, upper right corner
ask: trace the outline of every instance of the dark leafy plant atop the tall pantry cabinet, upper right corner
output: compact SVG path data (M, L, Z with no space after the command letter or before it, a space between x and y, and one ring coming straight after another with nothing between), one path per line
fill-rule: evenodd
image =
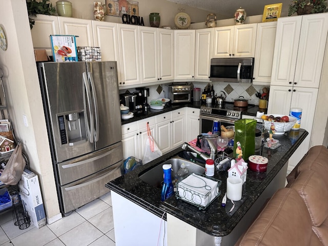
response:
M297 0L289 5L288 16L294 13L301 15L322 12L327 12L326 0Z

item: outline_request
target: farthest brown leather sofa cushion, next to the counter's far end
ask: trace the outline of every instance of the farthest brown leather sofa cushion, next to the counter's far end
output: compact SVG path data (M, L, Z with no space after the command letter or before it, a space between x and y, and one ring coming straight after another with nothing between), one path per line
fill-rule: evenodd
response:
M328 172L328 149L322 145L311 147L310 150L297 163L296 167L286 177L288 187L303 170L315 170L318 172Z

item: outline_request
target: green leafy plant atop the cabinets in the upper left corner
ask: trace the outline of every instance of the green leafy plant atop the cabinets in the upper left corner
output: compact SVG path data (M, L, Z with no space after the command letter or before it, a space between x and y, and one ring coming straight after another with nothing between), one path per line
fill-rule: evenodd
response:
M56 9L52 7L51 3L47 3L49 1L50 0L42 0L41 2L37 2L36 0L26 0L31 29L35 23L31 16L36 16L36 14L56 15Z

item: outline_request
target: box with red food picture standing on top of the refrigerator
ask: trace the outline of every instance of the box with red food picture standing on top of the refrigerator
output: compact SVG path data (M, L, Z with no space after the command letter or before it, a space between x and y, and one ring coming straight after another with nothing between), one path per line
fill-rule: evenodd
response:
M53 61L78 61L74 35L50 35Z

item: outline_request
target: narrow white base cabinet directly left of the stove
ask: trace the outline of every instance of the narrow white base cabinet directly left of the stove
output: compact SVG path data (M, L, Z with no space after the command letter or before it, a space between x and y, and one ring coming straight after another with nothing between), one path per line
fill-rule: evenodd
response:
M200 112L200 109L187 108L186 142L189 142L189 141L195 139L200 134L199 112Z

